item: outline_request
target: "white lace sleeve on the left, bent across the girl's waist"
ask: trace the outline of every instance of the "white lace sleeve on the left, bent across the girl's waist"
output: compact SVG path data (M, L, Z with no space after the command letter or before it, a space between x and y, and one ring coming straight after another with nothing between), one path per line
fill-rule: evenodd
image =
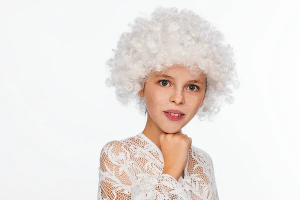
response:
M130 166L130 156L121 141L110 141L103 146L98 168L98 200L188 199L171 175L139 174L144 178L137 181L127 166Z

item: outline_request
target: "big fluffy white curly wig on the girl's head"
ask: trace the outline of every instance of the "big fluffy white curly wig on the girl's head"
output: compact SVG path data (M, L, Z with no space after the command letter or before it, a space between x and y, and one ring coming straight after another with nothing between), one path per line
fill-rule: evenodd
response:
M176 7L156 7L150 17L137 17L132 29L123 32L106 61L110 76L105 83L116 88L116 97L128 107L134 102L139 113L146 113L143 97L138 95L151 71L161 71L174 63L196 74L206 74L203 105L195 116L212 118L223 102L233 103L232 90L239 87L232 47L224 42L223 34L191 10ZM198 70L199 71L199 70Z

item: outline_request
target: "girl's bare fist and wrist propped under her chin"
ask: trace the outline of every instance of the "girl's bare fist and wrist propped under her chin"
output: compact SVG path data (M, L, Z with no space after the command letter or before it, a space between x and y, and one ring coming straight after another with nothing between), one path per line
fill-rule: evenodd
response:
M162 173L178 180L185 168L192 139L179 131L173 134L162 133L159 135L159 141L164 160Z

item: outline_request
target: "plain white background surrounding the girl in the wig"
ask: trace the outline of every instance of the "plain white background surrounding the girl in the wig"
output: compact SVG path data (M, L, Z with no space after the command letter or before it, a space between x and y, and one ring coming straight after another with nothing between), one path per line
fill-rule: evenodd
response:
M105 86L105 61L156 5L201 14L235 52L235 102L183 128L212 157L219 198L300 199L296 3L1 0L0 199L96 199L102 146L146 121Z

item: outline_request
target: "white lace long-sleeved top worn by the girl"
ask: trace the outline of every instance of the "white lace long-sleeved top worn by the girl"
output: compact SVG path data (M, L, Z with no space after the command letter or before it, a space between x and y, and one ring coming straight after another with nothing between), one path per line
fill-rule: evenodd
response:
M100 153L97 199L218 200L211 157L191 144L178 181L162 174L163 156L143 133L106 143Z

